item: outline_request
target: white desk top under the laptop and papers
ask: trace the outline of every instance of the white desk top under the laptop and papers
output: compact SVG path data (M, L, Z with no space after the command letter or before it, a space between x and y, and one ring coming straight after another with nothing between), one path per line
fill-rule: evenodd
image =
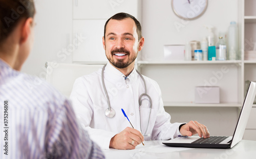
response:
M162 144L162 141L145 141L135 150L103 150L106 159L112 158L256 158L256 141L242 140L231 149L175 148Z

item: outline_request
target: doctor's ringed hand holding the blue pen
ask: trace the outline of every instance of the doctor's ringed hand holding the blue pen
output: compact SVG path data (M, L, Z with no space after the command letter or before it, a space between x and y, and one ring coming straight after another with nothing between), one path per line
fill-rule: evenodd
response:
M142 141L144 141L144 137L140 131L126 127L110 140L110 148L120 150L135 149Z

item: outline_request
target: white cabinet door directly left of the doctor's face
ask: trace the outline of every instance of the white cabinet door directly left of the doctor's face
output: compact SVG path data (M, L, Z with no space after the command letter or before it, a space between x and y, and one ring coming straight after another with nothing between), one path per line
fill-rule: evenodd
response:
M76 50L73 62L106 62L103 49L104 20L73 20Z

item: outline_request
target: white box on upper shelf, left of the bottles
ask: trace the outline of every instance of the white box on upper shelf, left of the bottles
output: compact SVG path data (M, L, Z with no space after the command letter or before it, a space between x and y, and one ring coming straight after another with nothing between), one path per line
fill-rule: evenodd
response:
M164 45L163 54L164 60L184 60L184 45Z

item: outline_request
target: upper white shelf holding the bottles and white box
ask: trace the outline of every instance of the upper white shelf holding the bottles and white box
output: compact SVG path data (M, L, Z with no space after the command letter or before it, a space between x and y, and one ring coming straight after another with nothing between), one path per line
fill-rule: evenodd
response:
M138 61L138 64L241 64L241 60L226 61Z

